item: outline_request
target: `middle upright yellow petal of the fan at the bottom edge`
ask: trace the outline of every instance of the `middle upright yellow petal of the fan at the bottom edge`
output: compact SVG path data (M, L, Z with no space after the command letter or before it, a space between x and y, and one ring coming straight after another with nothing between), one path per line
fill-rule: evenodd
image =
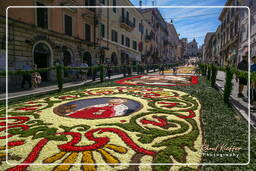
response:
M82 164L92 164L92 165L83 165L82 169L84 171L96 171L96 166L93 165L95 163L93 159L93 155L91 151L84 151L82 157Z

